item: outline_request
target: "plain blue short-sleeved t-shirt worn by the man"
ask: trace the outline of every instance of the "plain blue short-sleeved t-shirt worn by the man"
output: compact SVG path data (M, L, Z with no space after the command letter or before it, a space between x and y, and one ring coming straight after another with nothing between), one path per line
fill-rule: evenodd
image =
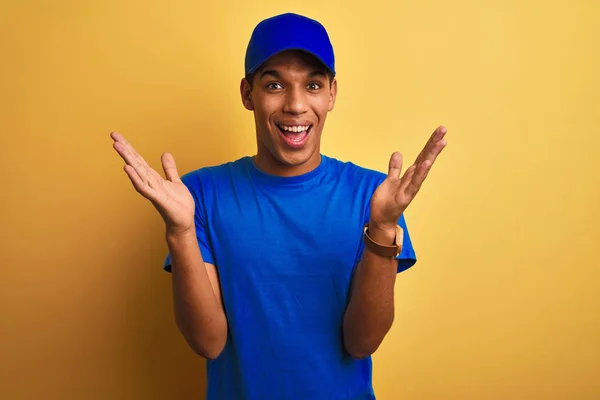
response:
M268 175L252 157L183 176L229 327L223 352L207 361L208 400L375 398L371 358L345 351L342 319L384 179L326 156L295 177ZM404 217L399 224L398 272L416 261Z

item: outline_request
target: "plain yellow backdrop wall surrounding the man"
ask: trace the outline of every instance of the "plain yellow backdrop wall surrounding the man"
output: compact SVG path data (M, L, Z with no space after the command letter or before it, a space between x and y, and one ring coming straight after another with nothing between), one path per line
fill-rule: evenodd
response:
M2 1L0 398L203 398L162 221L108 135L180 172L252 154L244 51L286 11L337 52L324 153L384 171L449 130L378 399L600 398L594 0Z

